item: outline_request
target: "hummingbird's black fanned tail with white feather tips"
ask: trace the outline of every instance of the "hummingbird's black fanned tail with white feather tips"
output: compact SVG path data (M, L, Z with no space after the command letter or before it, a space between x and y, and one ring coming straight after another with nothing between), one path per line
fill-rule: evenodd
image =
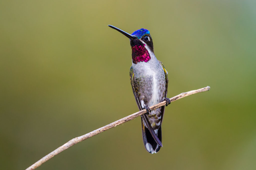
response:
M143 138L143 143L144 143L146 150L149 153L157 153L160 150L161 146L157 145L156 141L152 137L148 128L144 126L142 118L141 118L141 124L142 124L142 138ZM156 135L157 135L158 139L162 142L161 125L159 126L159 129L158 129Z

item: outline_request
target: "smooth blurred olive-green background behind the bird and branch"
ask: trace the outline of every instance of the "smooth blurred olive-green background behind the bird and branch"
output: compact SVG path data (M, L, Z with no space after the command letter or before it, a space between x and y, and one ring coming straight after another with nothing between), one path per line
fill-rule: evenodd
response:
M126 32L146 28L169 72L149 154L137 118L38 169L255 169L256 1L1 1L1 169L25 169L138 108Z

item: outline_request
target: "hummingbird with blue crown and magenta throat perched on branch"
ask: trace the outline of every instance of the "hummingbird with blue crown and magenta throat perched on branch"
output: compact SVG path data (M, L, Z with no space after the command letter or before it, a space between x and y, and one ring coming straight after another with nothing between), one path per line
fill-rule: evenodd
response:
M170 99L166 97L168 72L163 63L156 59L152 37L148 30L142 28L129 34L112 25L108 26L130 39L132 91L139 110L146 109L147 111L141 116L143 143L149 153L157 153L163 147L161 125L164 109L170 104ZM164 100L165 106L155 110L149 108Z

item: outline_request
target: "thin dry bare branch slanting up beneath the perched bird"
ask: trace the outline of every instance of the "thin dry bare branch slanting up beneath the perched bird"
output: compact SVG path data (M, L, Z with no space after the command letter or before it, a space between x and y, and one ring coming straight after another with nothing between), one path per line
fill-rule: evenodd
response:
M191 91L188 91L188 92L185 92L185 93L181 93L181 94L179 94L177 96L174 96L174 97L170 98L170 101L173 102L175 100L181 99L183 97L187 97L189 95L193 95L193 94L196 94L196 93L208 91L209 89L210 89L210 87L207 86L207 87L200 88L200 89L197 89L197 90L191 90ZM155 104L154 106L151 106L150 109L151 110L155 110L155 109L157 109L159 107L164 106L165 104L166 104L166 101L162 101L162 102L160 102L158 104ZM103 126L103 127L99 128L99 129L93 130L90 133L87 133L85 135L73 138L70 141L68 141L67 143L65 143L64 145L60 146L59 148L55 149L54 151L52 151L48 155L46 155L43 158L41 158L40 160L38 160L36 163L34 163L30 167L28 167L26 170L36 169L38 166L42 165L43 163L45 163L46 161L48 161L49 159L51 159L55 155L59 154L60 152L68 149L69 147L71 147L71 146L73 146L73 145L75 145L75 144L77 144L77 143L79 143L79 142L81 142L81 141L83 141L85 139L88 139L88 138L90 138L90 137L92 137L94 135L97 135L97 134L99 134L101 132L104 132L105 130L108 130L108 129L112 128L112 127L115 127L115 126L120 125L122 123L128 122L128 121L134 119L135 117L138 117L138 116L141 116L141 115L145 114L146 112L147 112L146 109L143 109L143 110L141 110L139 112L133 113L133 114L131 114L129 116L126 116L126 117L124 117L122 119L119 119L119 120L117 120L117 121L115 121L113 123L110 123L110 124L108 124L106 126Z

